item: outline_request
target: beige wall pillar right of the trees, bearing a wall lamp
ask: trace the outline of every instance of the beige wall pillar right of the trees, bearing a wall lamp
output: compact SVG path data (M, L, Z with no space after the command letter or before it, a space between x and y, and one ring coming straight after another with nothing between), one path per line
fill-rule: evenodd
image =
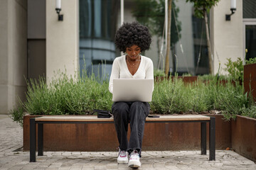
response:
M214 74L218 72L220 62L221 74L227 59L235 61L242 58L242 1L236 1L237 10L230 21L225 21L225 14L230 14L230 1L221 0L213 8L212 45L214 47ZM218 54L218 56L217 56Z

